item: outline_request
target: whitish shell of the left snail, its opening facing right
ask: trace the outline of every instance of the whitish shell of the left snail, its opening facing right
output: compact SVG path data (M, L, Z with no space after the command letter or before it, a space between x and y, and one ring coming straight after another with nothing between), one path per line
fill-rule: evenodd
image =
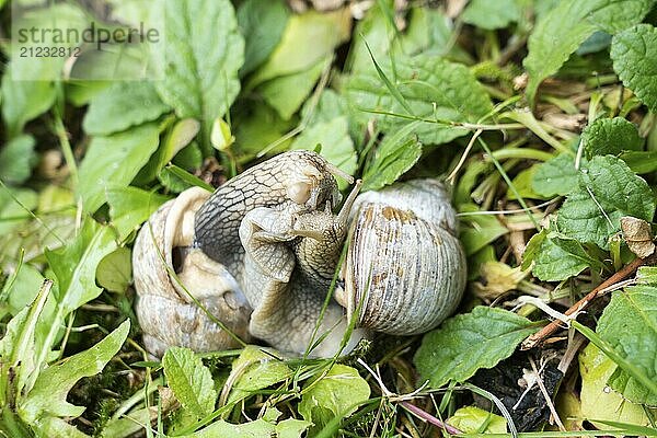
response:
M249 339L251 308L238 284L223 266L191 247L194 214L209 195L195 187L169 200L150 217L135 241L135 310L143 344L155 356L162 356L170 346L209 351L239 345L189 295L233 333ZM181 256L180 263L174 262L174 254ZM176 272L177 280L170 270Z

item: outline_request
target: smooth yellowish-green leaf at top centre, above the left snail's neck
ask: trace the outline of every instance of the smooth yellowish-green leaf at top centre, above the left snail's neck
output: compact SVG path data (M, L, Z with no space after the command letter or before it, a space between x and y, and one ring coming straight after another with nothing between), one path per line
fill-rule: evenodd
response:
M311 10L291 15L280 42L267 61L253 73L247 87L309 70L348 39L350 30L348 8L327 13Z

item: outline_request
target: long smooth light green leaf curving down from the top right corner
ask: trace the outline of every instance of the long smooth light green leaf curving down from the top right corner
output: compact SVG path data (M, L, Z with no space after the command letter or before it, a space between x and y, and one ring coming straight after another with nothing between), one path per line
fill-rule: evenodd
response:
M543 79L558 71L595 31L615 33L639 23L654 3L654 0L562 0L539 20L527 42L529 54L522 65L529 72L530 102Z

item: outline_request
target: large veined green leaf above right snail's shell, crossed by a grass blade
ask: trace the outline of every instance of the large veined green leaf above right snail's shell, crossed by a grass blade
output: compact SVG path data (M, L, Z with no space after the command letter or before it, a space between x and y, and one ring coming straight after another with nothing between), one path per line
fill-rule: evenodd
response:
M389 61L380 64L415 116L423 118L415 128L423 143L440 145L462 137L470 130L459 127L459 123L477 123L493 110L488 94L463 65L428 55L400 56L395 58L394 70ZM362 125L372 118L380 119L384 132L394 132L410 123L407 112L374 69L348 78L345 92Z

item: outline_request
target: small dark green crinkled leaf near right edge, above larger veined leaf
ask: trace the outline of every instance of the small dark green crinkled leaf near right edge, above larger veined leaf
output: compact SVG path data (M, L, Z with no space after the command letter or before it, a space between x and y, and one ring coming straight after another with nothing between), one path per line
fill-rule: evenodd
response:
M623 117L600 117L581 132L588 159L595 155L618 155L622 151L641 151L644 140L631 122Z

